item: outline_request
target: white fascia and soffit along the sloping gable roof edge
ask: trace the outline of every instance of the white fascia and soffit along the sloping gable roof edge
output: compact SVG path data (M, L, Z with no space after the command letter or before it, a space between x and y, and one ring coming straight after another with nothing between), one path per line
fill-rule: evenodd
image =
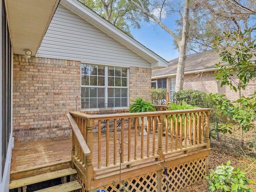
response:
M118 29L106 19L84 6L78 0L60 0L60 4L150 62L152 69L167 67L168 61L140 44L134 38L128 36L122 30Z

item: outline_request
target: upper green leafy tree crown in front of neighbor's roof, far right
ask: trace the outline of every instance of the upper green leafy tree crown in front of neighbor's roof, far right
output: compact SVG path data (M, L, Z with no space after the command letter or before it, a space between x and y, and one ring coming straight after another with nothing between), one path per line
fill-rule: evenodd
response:
M250 38L251 32L251 29L244 32L224 32L224 38L215 39L215 50L220 54L222 61L228 62L228 66L216 64L216 80L221 81L221 87L229 85L234 91L245 89L250 80L256 77L256 64L253 58L256 56L256 44Z

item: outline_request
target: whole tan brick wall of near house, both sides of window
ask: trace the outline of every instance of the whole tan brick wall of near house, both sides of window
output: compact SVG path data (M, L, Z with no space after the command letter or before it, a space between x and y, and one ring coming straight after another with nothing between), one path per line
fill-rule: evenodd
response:
M25 60L22 55L14 55L13 76L14 141L70 135L66 114L76 110L76 96L80 110L80 62L36 57ZM139 96L150 100L150 78L151 69L130 68L130 103Z

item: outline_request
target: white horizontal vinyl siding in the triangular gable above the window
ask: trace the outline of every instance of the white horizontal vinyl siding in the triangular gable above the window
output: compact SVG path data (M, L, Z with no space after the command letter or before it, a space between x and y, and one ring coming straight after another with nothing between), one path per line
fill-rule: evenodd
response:
M38 57L151 68L151 64L62 5L52 18Z

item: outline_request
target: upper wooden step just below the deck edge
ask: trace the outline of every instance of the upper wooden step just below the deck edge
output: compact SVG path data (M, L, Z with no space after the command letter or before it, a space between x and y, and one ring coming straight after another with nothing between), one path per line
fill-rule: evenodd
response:
M76 173L77 173L77 171L75 169L67 168L67 169L52 171L52 172L48 172L48 173L44 173L44 174L38 174L38 175L30 176L27 178L12 180L10 182L9 189L27 186L30 184L35 184L35 183L39 183L42 181L47 181L47 180L64 177L64 176L68 176L68 175L72 175L72 174L76 174Z

